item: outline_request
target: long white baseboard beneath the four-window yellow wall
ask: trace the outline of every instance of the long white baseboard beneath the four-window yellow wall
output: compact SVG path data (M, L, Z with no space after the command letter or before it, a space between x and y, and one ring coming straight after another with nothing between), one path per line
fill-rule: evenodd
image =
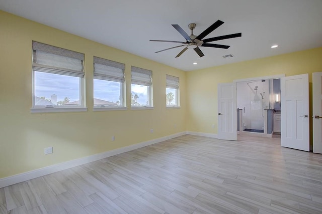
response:
M99 153L99 154L94 154L94 155L91 155L91 156L82 157L82 158L78 158L78 159L75 159L75 160L70 160L70 161L63 162L63 163L58 163L58 164L51 165L51 166L46 166L44 168L35 169L35 170L24 172L24 173L21 173L21 174L16 174L16 175L9 176L9 177L4 177L4 178L0 179L0 188L5 187L5 186L10 186L10 185L13 185L13 184L16 184L16 183L20 183L20 182L23 182L23 181L26 181L26 180L30 180L30 179L33 179L33 178L36 178L36 177L51 174L51 173L61 171L61 170L64 170L64 169L68 169L68 168L71 168L71 167L83 165L85 163L90 163L90 162L100 160L100 159L103 159L103 158L106 158L106 157L110 157L110 156L113 156L113 155L121 154L123 152L131 151L131 150L138 149L138 148L142 148L144 146L159 143L159 142L169 140L169 139L172 139L172 138L175 138L175 137L179 137L179 136L182 136L182 135L185 135L185 134L187 134L187 133L184 131L184 132L172 134L172 135L169 135L169 136L160 137L160 138L157 138L157 139L148 140L148 141L133 144L133 145L130 145L130 146L110 150L110 151L107 151L107 152L102 152L102 153Z

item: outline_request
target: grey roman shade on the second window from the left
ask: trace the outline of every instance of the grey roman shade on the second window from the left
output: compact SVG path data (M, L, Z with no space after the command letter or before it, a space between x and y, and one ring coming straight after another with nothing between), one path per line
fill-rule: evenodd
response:
M125 64L94 57L94 78L124 83Z

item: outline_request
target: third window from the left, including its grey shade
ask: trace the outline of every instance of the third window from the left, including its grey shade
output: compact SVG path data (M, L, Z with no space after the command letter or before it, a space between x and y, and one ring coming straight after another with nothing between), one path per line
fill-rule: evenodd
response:
M131 106L152 107L152 71L131 66Z

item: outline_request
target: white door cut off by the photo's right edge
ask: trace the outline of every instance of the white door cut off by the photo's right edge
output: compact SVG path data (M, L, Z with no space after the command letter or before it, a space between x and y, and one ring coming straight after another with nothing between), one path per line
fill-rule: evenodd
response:
M322 154L322 72L313 73L313 152Z

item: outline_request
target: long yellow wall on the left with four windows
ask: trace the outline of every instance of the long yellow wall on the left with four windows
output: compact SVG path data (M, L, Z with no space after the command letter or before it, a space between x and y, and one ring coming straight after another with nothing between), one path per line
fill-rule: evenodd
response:
M185 72L1 11L0 29L0 178L186 130ZM33 40L85 54L87 112L30 112ZM124 63L127 77L131 65L152 70L154 110L93 112L94 55ZM166 109L166 74L180 78L180 109Z

